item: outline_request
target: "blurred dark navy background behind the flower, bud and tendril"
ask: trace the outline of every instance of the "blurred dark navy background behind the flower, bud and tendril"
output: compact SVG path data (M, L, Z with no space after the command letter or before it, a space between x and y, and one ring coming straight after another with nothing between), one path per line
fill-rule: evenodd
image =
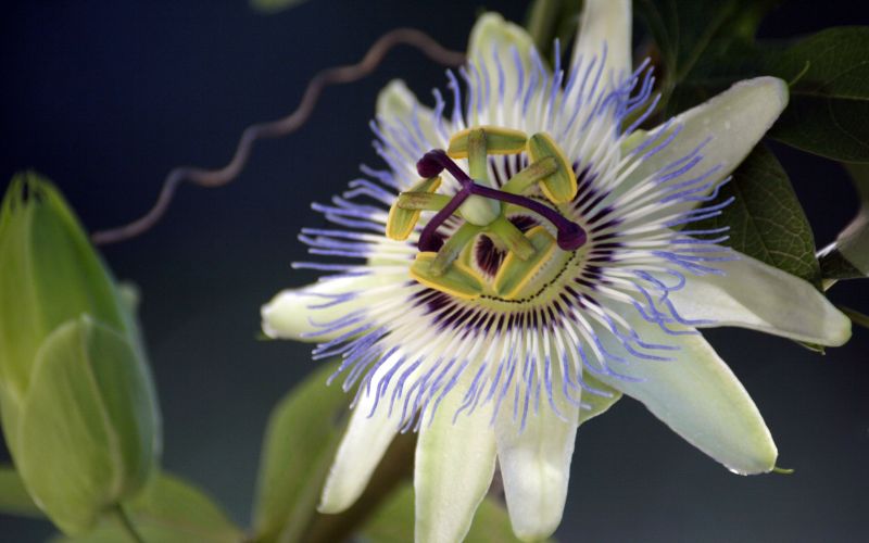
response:
M0 188L35 168L87 228L151 206L179 164L223 165L242 128L295 108L320 68L356 62L382 33L426 29L464 49L482 8L521 21L526 2L311 0L264 16L243 0L17 1L0 10ZM864 2L792 1L761 35L869 24ZM165 422L164 463L247 526L272 406L314 363L310 346L260 342L259 307L312 277L290 269L295 236L326 200L377 164L367 122L402 77L424 99L444 83L394 50L361 83L326 90L301 131L261 143L232 185L184 186L148 233L103 253L142 293L141 319ZM867 119L869 121L869 119ZM835 164L776 146L830 242L856 210ZM2 273L2 270L0 270ZM867 283L834 301L869 311ZM869 331L818 356L745 330L707 336L763 412L792 476L729 473L632 401L583 426L562 541L869 541ZM41 541L46 522L0 516L0 540Z

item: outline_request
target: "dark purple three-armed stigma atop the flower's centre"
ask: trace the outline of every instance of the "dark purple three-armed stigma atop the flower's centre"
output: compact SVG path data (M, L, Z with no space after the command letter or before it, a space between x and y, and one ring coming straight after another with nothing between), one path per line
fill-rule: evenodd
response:
M578 224L568 220L557 211L536 200L520 194L492 189L475 182L474 179L463 172L462 168L458 167L458 164L453 162L441 149L427 152L419 159L419 162L416 163L416 172L427 179L437 176L444 169L450 172L450 174L462 184L462 189L455 193L453 199L450 200L450 203L431 217L431 220L429 220L423 229L423 233L419 236L419 242L417 243L420 251L440 250L443 241L434 236L434 232L471 194L518 205L544 217L558 229L557 242L558 247L564 251L575 251L585 244L588 239L585 230Z

